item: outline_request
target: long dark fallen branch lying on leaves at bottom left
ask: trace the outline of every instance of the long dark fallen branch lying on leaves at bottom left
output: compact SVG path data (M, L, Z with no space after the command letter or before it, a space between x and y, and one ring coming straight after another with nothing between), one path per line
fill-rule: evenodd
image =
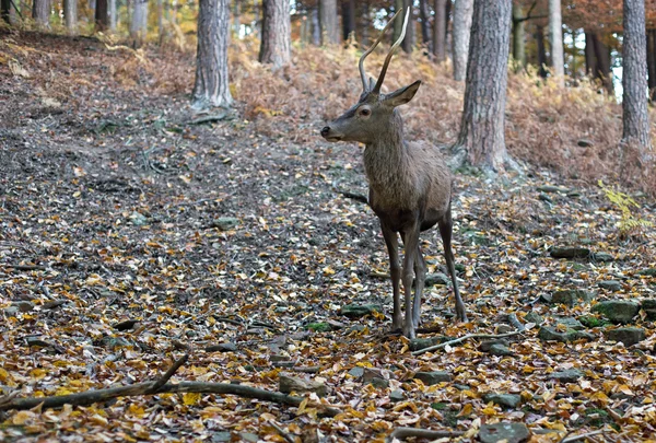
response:
M31 409L43 405L43 408L60 408L63 405L89 406L94 403L106 401L117 397L131 397L138 395L151 395L151 390L157 382L136 383L128 386L109 387L107 389L86 390L78 394L57 395L51 397L26 397L26 398L0 398L0 410L10 409ZM200 393L200 394L220 394L236 395L244 398L255 398L262 401L278 403L281 405L298 406L305 399L283 393L260 389L253 386L233 385L229 383L206 383L206 382L181 382L177 384L167 383L161 386L157 394L177 394L177 393ZM316 405L321 408L321 405ZM335 417L340 410L332 407L325 407L323 413L327 417Z

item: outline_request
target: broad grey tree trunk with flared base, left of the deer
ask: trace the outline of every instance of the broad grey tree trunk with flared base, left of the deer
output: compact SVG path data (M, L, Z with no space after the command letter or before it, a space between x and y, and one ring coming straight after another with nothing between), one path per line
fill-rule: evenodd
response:
M230 0L200 0L198 49L192 106L197 109L233 103L227 82Z

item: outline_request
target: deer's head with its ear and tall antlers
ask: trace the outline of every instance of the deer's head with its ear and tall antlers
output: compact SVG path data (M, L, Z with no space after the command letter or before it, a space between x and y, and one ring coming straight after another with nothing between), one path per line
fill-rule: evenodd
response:
M386 125L389 125L395 107L410 102L417 93L417 90L421 84L421 81L419 80L409 86L401 88L393 93L380 93L380 86L383 86L383 81L385 80L385 73L387 72L391 56L406 37L409 9L408 12L406 12L401 35L395 44L391 45L391 48L385 58L385 62L383 63L383 68L380 69L378 80L374 82L374 79L370 78L367 82L366 73L364 72L364 59L376 48L376 46L378 46L378 43L380 43L385 36L385 32L394 23L400 12L401 11L398 11L391 18L372 47L360 57L358 66L360 68L363 89L360 100L349 110L321 129L321 136L326 140L370 143L375 138L376 133L379 133Z

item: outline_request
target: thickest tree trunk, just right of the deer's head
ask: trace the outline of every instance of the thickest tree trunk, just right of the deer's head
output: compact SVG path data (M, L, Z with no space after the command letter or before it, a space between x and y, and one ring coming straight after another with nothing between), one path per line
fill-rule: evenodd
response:
M456 153L475 166L501 171L506 161L505 102L512 0L473 5L465 110Z

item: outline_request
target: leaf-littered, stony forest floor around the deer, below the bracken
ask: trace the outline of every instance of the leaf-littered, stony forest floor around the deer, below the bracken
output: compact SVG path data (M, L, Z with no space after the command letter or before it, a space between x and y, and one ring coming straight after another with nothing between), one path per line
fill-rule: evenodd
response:
M389 334L377 220L340 194L366 195L361 148L325 142L320 118L251 115L243 103L192 121L192 58L147 54L157 71L181 70L185 92L157 83L142 54L0 34L0 441L373 442L400 427L495 441L499 422L523 423L532 442L655 434L656 234L621 236L622 205L599 187L532 166L495 180L457 174L470 322L453 318L432 230L420 337L525 329L491 350L469 339L413 354L421 340ZM635 199L624 224L655 222L653 200ZM552 257L571 246L578 258ZM614 307L599 311L604 301ZM350 304L378 306L347 317ZM11 407L155 381L184 353L172 383L277 392L289 375L320 384L321 398Z

